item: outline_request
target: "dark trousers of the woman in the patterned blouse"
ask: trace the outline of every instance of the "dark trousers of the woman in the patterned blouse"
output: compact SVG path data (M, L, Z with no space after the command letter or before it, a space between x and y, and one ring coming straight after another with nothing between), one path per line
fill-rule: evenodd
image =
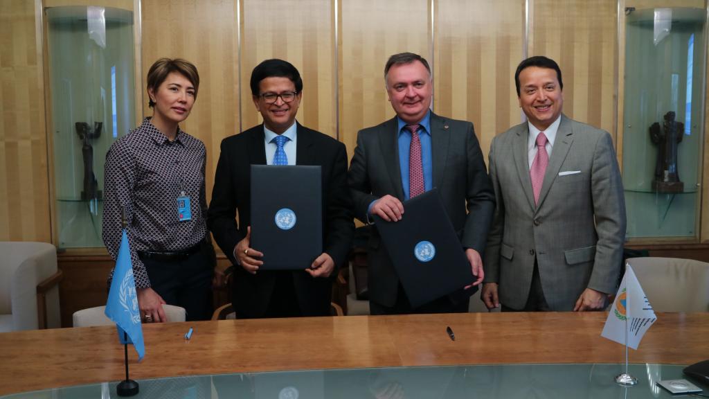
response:
M214 263L209 248L203 245L198 252L183 260L141 260L145 263L151 288L168 305L184 307L187 321L211 319Z

